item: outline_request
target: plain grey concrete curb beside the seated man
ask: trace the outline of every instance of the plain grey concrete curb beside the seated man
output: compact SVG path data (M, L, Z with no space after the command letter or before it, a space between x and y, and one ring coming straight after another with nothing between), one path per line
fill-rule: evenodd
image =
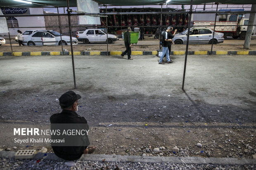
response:
M14 151L0 151L0 157L14 158ZM42 159L45 153L38 153L33 159ZM46 160L65 161L54 153L47 153ZM105 160L104 160L105 159ZM256 165L256 159L249 158L201 158L201 157L166 157L166 156L121 156L90 154L83 155L81 161L106 161L106 162L146 162L146 163L178 163L178 164L218 164L218 165Z

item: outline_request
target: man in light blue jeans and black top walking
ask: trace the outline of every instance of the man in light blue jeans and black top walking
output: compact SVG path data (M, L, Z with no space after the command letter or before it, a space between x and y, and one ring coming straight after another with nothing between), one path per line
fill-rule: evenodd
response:
M162 61L163 61L163 58L164 58L165 54L166 54L167 63L171 63L171 60L170 60L170 57L169 57L169 49L168 49L169 42L173 41L172 39L168 39L168 33L171 32L171 29L172 29L171 27L168 27L162 35L163 52L162 52L162 55L160 57L159 64L164 64L164 63L162 63Z

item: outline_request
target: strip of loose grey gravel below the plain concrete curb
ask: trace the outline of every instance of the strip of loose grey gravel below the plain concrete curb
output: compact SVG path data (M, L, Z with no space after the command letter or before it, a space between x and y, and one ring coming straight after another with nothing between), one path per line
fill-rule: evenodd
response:
M68 166L74 164L74 166ZM98 161L51 161L51 160L15 160L0 158L2 170L254 170L254 165L198 165L198 164L174 164L174 163L119 163Z

